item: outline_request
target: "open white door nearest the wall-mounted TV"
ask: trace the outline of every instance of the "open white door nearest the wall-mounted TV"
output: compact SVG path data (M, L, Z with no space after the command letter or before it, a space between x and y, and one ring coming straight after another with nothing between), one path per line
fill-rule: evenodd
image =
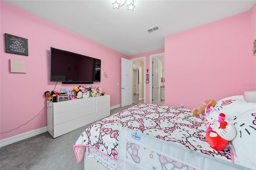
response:
M132 104L132 60L121 59L122 107Z

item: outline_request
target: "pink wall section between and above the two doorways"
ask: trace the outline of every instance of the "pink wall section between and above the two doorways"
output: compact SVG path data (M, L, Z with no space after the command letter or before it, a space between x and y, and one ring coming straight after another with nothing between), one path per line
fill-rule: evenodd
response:
M146 69L150 69L149 68L149 61L150 61L150 55L154 55L154 54L159 54L159 53L164 53L164 49L159 49L159 50L156 50L156 51L150 51L150 52L147 52L147 53L141 53L141 54L137 54L137 55L131 55L128 57L128 59L135 59L135 58L140 58L140 57L146 57ZM147 72L146 72L147 73ZM151 70L148 71L149 74L151 74ZM146 94L145 94L145 103L150 103L149 99L150 99L150 96L149 96L149 83L147 84L146 83L146 80L145 80L145 86L146 86Z

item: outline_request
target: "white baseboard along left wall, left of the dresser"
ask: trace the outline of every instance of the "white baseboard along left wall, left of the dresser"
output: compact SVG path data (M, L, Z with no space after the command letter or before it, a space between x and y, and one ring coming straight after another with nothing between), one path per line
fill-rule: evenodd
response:
M16 136L12 136L10 138L2 139L2 140L0 140L0 147L6 146L8 144L12 144L14 142L18 142L20 140L24 140L26 138L30 138L32 136L36 136L36 135L44 133L44 132L47 132L47 127L38 128L36 130L31 130L29 132L25 132L22 134L18 134Z

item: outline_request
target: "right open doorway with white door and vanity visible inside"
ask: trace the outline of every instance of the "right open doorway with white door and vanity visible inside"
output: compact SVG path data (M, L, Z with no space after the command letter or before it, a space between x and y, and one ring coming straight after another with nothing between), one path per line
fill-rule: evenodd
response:
M150 55L150 103L165 105L164 53Z

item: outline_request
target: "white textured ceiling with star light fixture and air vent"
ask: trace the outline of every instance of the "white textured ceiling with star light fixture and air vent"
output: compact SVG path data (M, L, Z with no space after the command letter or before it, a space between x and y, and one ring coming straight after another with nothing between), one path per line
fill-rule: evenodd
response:
M256 3L256 0L5 1L128 56L163 49L165 36L246 12ZM147 31L155 26L159 30Z

